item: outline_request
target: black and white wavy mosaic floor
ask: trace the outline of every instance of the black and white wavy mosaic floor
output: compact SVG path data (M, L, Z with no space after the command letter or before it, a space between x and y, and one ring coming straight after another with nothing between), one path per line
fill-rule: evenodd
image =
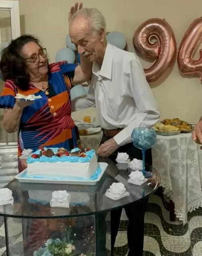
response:
M145 214L144 256L202 256L202 208L188 214L188 224L170 222L166 199L152 195ZM123 212L114 256L127 255L127 218ZM22 254L22 225L9 219L10 255ZM12 230L12 232L11 232ZM107 246L109 247L109 245ZM4 224L0 218L0 256L6 256Z

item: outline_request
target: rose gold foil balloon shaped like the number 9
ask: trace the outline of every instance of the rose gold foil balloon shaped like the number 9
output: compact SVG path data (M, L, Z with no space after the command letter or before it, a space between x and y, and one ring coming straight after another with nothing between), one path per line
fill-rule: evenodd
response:
M155 39L157 42L151 42ZM176 40L170 25L162 19L146 20L133 36L133 46L143 57L154 60L151 67L145 68L147 81L158 80L176 59Z

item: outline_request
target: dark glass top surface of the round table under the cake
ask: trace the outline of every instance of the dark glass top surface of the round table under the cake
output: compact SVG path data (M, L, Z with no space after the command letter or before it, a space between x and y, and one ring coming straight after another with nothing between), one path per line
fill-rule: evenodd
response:
M156 169L146 164L146 170L152 177L143 185L128 183L130 171L127 164L115 164L109 158L100 157L98 162L108 163L108 167L96 185L64 185L42 183L20 183L14 179L8 185L14 197L14 203L0 206L0 216L14 218L65 218L95 214L121 208L131 202L143 200L151 195L160 184L160 176ZM129 196L112 200L105 192L114 182L125 185ZM51 207L53 191L66 190L71 194L69 208Z

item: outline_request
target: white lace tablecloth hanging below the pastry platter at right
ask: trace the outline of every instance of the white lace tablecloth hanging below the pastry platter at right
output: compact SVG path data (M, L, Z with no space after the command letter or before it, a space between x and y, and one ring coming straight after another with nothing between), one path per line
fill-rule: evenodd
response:
M202 206L202 151L191 133L157 135L152 149L153 167L161 176L164 193L175 204L175 214L184 223L187 212Z

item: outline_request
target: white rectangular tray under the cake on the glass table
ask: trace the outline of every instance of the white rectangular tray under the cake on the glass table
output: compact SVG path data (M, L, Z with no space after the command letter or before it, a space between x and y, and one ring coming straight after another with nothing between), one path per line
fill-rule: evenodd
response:
M97 177L96 180L94 181L81 181L81 180L62 180L62 181L57 181L53 179L30 179L30 178L25 178L24 176L27 173L27 169L16 175L15 179L17 179L19 182L24 182L24 183L52 183L52 184L68 184L68 185L96 185L98 181L100 181L101 177L105 173L107 169L108 164L107 163L98 163L98 167L102 169L100 175Z

